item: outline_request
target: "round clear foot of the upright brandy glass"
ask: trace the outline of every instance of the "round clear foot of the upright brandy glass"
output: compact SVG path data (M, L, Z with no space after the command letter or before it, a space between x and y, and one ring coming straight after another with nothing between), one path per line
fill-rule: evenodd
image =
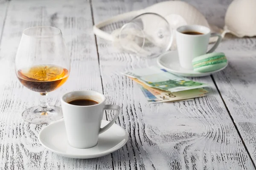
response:
M62 110L57 106L49 106L41 108L35 106L28 108L22 113L22 118L29 123L34 124L49 124L61 120L63 118Z

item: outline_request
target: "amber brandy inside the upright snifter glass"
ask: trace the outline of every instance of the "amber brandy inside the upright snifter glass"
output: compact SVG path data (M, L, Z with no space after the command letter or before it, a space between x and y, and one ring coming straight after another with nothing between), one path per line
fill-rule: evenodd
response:
M35 65L17 72L21 84L42 94L59 88L67 81L68 76L68 70L58 65Z

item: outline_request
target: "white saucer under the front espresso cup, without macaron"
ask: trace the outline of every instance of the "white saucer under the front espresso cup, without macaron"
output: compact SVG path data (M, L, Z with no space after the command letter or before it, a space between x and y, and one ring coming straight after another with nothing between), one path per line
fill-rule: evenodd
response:
M102 120L101 127L107 124L108 121ZM122 127L114 124L99 135L99 142L95 147L79 149L68 144L64 121L60 121L44 127L38 135L38 140L44 147L58 155L90 159L105 156L118 150L127 142L128 134Z

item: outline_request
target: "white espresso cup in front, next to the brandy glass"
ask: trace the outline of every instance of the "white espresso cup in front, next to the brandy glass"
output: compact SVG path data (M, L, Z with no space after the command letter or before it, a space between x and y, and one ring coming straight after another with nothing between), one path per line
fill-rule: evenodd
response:
M95 105L71 105L77 99L98 102ZM116 121L121 108L119 105L105 105L105 96L96 91L72 91L61 97L61 107L67 132L67 140L72 147L90 148L97 144L99 134L105 132ZM111 122L100 128L104 110L117 111Z

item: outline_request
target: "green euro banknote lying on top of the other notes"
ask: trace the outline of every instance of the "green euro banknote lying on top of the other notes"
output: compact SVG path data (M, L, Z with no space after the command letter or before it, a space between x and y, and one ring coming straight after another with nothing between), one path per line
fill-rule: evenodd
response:
M157 66L127 71L122 74L136 78L149 87L170 92L186 91L208 86L205 83L194 82L187 78L176 76Z

